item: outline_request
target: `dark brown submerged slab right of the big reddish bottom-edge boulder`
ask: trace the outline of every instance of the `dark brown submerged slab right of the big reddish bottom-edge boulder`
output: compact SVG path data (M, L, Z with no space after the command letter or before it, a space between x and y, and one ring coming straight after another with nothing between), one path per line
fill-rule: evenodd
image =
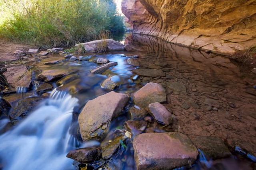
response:
M231 156L224 142L218 137L189 136L192 143L200 149L207 160Z

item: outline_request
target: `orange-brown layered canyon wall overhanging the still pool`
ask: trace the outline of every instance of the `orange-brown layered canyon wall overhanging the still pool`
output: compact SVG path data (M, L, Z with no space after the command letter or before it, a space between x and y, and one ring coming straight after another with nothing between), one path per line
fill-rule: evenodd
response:
M256 0L123 0L133 33L230 55L256 45Z

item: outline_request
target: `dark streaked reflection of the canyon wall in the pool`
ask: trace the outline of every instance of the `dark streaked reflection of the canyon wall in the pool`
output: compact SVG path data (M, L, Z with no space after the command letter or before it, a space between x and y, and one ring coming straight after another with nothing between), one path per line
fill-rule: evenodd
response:
M226 57L174 45L157 37L132 34L126 37L125 44L128 51L146 52L158 60L172 61L175 64L182 62L194 67L193 69L210 70L212 74L216 75L225 73L225 78L227 78L227 74L236 74L237 76L243 74L240 72L239 64Z

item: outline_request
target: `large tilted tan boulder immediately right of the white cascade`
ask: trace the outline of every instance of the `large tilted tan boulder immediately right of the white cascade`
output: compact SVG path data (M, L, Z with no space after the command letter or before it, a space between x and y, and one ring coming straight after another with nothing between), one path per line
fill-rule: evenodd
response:
M110 121L120 115L128 100L127 94L112 91L88 101L78 116L82 139L101 140L108 131Z

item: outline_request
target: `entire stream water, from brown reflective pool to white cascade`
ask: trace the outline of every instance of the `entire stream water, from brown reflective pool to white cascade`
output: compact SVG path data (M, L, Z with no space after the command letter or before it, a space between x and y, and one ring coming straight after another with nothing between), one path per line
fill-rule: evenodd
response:
M48 58L42 58L31 68L33 74L39 74L38 70L72 70L71 75L76 78L59 87L56 82L51 82L54 90L48 92L48 97L35 106L22 121L9 130L4 130L0 135L0 169L76 169L76 166L72 165L73 160L66 158L68 151L99 145L96 141L81 140L77 133L78 114L88 100L109 92L101 88L101 83L110 76L112 81L119 85L116 92L130 95L147 82L168 86L168 82L180 81L186 85L186 94L171 97L170 94L167 95L166 107L172 108L177 117L174 125L162 127L153 122L148 125L148 131L153 129L154 132L179 131L187 135L217 136L232 147L242 147L250 153L255 152L256 90L253 86L256 84L256 76L250 74L250 68L226 57L172 45L153 37L128 36L125 43L130 51L96 54L90 61L75 62L59 61L63 59L62 56L48 55ZM138 55L139 58L131 61L123 57L123 54ZM117 61L118 65L103 74L91 74L89 70L97 66L94 61L99 57ZM42 64L53 60L59 62ZM136 61L139 64L136 64ZM154 68L157 63L167 63L167 66L162 64L160 68L166 72L165 77L138 76L132 72L135 68ZM33 82L33 94L41 83ZM16 91L25 94L26 89L18 87ZM204 101L208 98L218 101L212 104L212 108L218 110L207 113L202 110ZM184 102L190 104L189 109L180 107ZM129 119L126 114L129 107L132 107L131 101L126 106L125 114L112 121L111 130L122 128L124 121ZM194 119L195 112L199 118ZM0 131L7 124L8 119L0 120ZM128 161L133 159L132 145L128 146L128 151L121 156L125 161L119 164L118 169L135 168L134 161ZM200 157L192 169L218 169L218 164L227 170L232 170L234 164L236 169L252 169L252 161L255 161L251 154L251 159L246 157L247 152L244 156L233 155L222 160L206 160L204 153L200 150L199 152Z

